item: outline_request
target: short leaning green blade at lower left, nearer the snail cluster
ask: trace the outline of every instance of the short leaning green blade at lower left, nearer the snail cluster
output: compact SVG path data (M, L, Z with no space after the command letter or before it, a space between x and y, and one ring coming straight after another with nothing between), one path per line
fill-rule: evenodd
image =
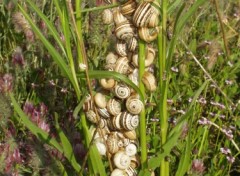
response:
M55 113L55 127L58 133L58 136L61 140L62 147L63 147L63 154L68 159L68 161L71 163L72 167L75 169L76 172L79 172L81 167L77 163L76 158L73 153L72 145L69 142L67 136L63 133L61 130L59 123L58 123L58 114Z

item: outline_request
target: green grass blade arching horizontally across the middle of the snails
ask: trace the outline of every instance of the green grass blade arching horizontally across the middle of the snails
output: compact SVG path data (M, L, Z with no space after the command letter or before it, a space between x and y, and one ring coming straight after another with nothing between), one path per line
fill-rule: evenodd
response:
M95 79L101 79L101 78L114 78L116 81L122 81L125 84L132 87L139 95L140 98L143 100L143 93L140 91L140 89L125 75L122 75L118 72L114 71L102 71L102 70L89 70L89 77L95 78ZM85 78L85 73L80 73L77 75L79 78Z

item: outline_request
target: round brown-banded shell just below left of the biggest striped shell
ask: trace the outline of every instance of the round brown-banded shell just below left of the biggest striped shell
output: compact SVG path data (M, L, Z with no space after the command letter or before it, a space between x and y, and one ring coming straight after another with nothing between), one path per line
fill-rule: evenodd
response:
M129 21L123 21L116 25L115 35L120 40L127 41L135 35L135 28Z

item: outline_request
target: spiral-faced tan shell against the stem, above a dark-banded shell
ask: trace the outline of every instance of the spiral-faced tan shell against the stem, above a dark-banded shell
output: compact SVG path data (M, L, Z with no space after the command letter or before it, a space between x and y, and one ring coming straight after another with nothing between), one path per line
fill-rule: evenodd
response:
M136 95L128 97L126 108L131 114L139 114L143 109L143 103Z

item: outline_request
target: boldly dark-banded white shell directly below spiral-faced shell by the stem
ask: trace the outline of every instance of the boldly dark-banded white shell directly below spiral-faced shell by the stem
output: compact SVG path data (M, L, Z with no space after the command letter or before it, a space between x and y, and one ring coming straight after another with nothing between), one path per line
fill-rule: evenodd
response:
M120 114L121 120L120 125L124 130L134 130L138 127L139 124L139 116L132 115L128 112L122 112Z

